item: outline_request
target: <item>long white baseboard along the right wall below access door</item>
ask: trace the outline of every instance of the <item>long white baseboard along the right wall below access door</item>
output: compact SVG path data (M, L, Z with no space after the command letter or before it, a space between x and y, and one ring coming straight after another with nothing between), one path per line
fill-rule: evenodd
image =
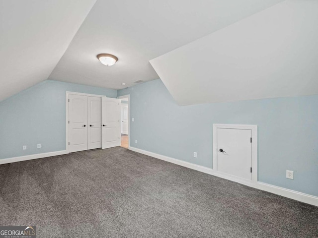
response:
M160 159L160 160L164 160L164 161L176 164L176 165L180 165L180 166L183 166L183 167L186 167L186 168L189 168L189 169L197 170L197 171L209 174L209 175L217 176L217 177L220 177L220 178L223 178L223 179L229 179L229 180L232 180L232 181L235 181L235 182L239 182L241 184L244 184L244 185L247 185L247 186L250 186L250 187L254 187L254 188L257 188L257 189L260 189L260 190L264 190L264 191L271 192L271 193L274 193L274 194L278 194L278 195L281 195L281 196L284 196L284 197L288 197L288 198L291 198L291 199L294 199L294 200L297 200L297 201L301 201L301 202L305 202L305 203L308 203L308 204L311 204L311 205L314 205L314 206L318 206L318 197L317 196L313 196L313 195L310 195L310 194L294 191L294 190L291 190L291 189L287 189L287 188L283 188L283 187L279 187L279 186L275 186L275 185L271 185L271 184L264 183L264 182L259 182L259 181L257 183L252 183L252 182L248 182L248 181L246 181L246 182L245 181L241 181L240 179L235 179L235 178L231 178L231 177L228 177L228 176L224 176L223 174L220 174L220 173L218 173L217 171L214 171L211 168L207 168L207 167L204 167L204 166L200 166L200 165L196 165L196 164L193 164L193 163L185 162L185 161L182 161L182 160L177 160L177 159L174 159L174 158L171 158L171 157L167 157L167 156L164 156L164 155L156 154L156 153L153 153L153 152L149 152L149 151L138 149L138 148L131 147L131 146L129 147L129 150L132 150L132 151L144 154L144 155L148 155L148 156Z

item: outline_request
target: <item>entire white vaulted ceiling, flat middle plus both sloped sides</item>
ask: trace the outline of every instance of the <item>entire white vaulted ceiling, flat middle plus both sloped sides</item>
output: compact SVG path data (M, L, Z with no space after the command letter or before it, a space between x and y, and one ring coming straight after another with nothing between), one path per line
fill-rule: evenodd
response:
M310 60L317 62L315 49L310 54L305 47L302 54L304 47L299 47L312 44L308 38L316 37L309 30L312 27L317 32L315 0L280 2L0 0L0 101L46 79L121 89L159 76L179 105L291 96L279 90L272 94L256 90L251 97L242 85L228 85L237 78L258 88L255 77L265 80L264 85L273 80L278 86L285 85L286 80L280 82L280 78L300 70L294 67L290 74L277 73L273 65L295 57L300 57L295 62L305 60L300 77L312 82L313 75L318 75L312 69L316 64L304 59L308 53ZM301 9L310 11L309 16L290 2L300 3ZM280 31L281 27L289 28ZM294 41L288 41L288 36ZM285 40L288 46L284 46ZM280 44L282 51L277 48ZM292 51L295 46L297 54ZM267 50L276 61L264 60ZM119 60L104 66L96 58L99 53L113 54ZM306 70L310 73L304 73ZM223 90L226 84L232 89L222 94L227 97L219 97L213 89L219 85ZM293 85L299 86L294 81ZM234 88L247 96L233 97ZM303 91L313 93L308 88Z

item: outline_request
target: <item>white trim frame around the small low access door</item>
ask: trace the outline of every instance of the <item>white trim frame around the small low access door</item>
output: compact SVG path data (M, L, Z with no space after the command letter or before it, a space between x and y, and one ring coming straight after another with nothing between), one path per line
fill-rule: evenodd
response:
M252 183L256 184L257 183L257 125L244 125L244 124L213 124L212 125L213 130L213 139L212 139L212 148L213 148L213 153L212 153L212 162L213 162L213 171L216 174L222 175L223 178L225 179L230 179L234 181L240 181L240 182L247 182L247 183ZM236 176L231 176L222 172L217 171L217 166L218 166L218 161L217 161L217 129L218 128L225 128L225 129L246 129L246 130L251 130L251 136L252 136L252 145L251 145L251 167L252 167L252 176L251 180L248 179L241 179Z

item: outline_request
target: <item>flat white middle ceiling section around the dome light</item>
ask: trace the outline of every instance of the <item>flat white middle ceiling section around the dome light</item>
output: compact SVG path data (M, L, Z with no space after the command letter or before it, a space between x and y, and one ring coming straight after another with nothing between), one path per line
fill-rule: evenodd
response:
M157 79L149 60L280 1L97 0L49 79L113 89ZM99 53L119 61L107 67Z

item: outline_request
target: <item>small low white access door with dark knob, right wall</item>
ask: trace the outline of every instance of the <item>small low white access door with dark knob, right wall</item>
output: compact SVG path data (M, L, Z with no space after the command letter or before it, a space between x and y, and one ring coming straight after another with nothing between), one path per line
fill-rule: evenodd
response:
M217 129L217 170L251 180L251 130Z

